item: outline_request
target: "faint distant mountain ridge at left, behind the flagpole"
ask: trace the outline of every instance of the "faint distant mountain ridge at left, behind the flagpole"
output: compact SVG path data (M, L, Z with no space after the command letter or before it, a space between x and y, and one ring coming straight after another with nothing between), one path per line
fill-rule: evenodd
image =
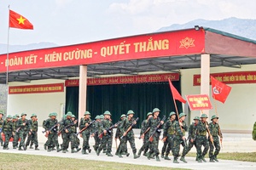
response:
M17 52L17 51L26 51L31 49L38 48L53 48L58 47L57 44L52 42L39 42L39 43L31 43L27 45L9 45L9 53ZM0 54L7 53L7 44L0 43Z

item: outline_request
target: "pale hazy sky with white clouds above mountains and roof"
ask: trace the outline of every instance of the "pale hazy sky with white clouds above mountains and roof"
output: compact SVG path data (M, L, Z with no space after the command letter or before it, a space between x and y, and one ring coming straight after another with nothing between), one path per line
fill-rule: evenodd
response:
M255 0L0 0L0 43L10 9L34 25L10 29L10 44L91 42L153 32L190 20L256 19Z

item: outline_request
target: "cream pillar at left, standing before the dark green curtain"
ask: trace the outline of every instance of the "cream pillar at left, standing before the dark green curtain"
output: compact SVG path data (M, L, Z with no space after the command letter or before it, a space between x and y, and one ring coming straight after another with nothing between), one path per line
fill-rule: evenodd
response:
M79 120L86 111L87 65L79 66Z

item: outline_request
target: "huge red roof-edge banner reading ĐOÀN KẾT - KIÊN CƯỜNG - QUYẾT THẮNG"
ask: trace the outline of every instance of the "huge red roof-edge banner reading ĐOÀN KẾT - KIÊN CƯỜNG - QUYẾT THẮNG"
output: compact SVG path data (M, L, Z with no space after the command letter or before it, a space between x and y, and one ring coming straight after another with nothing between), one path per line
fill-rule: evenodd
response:
M92 65L128 59L204 53L204 30L159 32L121 37L58 48L9 54L9 71ZM5 72L6 54L0 55L0 72Z

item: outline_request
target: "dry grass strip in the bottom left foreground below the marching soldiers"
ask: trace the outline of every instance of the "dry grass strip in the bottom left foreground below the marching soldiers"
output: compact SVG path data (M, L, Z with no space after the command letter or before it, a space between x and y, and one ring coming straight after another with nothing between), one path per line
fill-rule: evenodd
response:
M125 163L107 161L88 161L73 158L31 156L24 154L0 153L0 169L86 169L86 170L108 170L108 169L135 169L135 170L163 170L167 167L150 167L144 165L132 165ZM171 168L168 168L171 169ZM181 170L182 168L172 168Z

